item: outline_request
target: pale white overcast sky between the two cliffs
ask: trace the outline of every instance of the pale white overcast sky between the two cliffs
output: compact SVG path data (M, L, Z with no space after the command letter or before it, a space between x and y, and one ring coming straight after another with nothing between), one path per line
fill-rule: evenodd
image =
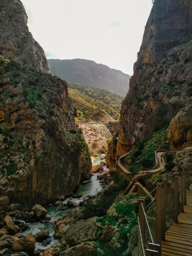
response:
M86 59L132 76L152 0L21 0L47 59Z

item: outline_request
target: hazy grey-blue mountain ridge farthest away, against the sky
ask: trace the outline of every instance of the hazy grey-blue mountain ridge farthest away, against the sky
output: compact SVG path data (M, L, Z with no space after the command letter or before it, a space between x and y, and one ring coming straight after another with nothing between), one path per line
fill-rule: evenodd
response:
M120 70L97 64L92 60L48 60L49 66L55 67L55 75L67 80L90 85L94 88L107 89L125 96L129 90L131 76Z

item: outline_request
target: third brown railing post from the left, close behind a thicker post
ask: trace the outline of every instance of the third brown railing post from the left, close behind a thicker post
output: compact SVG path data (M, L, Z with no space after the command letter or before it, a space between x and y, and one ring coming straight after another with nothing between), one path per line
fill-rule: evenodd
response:
M163 205L162 205L162 240L165 240L165 229L166 229L166 207L167 207L167 180L164 179L163 183Z

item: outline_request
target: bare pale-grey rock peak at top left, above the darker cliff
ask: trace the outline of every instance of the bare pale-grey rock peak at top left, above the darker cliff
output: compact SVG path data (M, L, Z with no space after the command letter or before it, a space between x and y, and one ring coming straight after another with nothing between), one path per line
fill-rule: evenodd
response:
M27 20L20 0L1 0L0 54L27 68L51 74L44 50L29 32Z

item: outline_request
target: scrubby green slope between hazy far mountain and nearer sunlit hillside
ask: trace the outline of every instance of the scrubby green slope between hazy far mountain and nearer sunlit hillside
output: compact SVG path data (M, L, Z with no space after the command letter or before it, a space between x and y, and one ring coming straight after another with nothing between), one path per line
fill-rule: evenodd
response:
M92 88L84 84L78 84L68 80L66 80L66 82L68 84L68 88L78 90L94 100L102 101L108 105L108 108L110 106L110 108L114 108L117 112L120 112L121 103L124 100L124 97L103 89Z

